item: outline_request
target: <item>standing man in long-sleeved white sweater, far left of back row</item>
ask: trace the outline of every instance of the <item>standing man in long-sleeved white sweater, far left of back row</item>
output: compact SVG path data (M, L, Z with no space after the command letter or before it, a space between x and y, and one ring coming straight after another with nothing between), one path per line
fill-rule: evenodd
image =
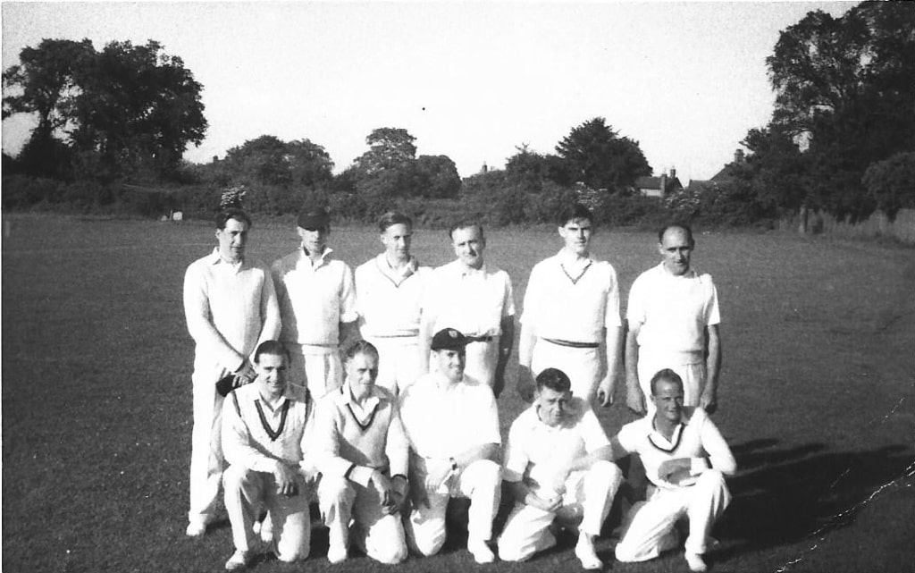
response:
M205 534L214 520L222 481L223 398L216 383L224 378L235 387L251 382L254 349L280 331L270 272L244 255L250 229L251 219L241 209L221 211L217 247L189 265L184 276L184 312L196 343L187 530L194 537Z

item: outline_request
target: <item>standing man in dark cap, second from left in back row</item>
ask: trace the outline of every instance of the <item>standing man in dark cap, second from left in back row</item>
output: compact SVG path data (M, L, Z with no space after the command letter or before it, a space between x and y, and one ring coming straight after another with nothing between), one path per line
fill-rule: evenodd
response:
M327 246L330 217L323 206L307 205L297 232L301 246L273 265L280 341L292 354L290 378L320 397L342 384L339 347L355 333L356 289L350 265Z

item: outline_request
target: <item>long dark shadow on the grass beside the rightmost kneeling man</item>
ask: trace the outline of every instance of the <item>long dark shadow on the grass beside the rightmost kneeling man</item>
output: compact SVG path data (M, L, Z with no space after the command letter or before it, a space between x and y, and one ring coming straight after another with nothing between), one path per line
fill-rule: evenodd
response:
M727 539L718 555L798 542L854 523L861 503L910 465L903 445L865 452L821 453L821 444L766 451L777 440L733 450L739 472L728 480L733 501L716 525Z

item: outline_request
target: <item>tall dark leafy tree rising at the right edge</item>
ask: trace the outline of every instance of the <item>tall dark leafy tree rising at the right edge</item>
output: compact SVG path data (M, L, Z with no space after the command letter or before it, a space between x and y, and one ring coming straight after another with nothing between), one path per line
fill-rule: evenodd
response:
M772 123L806 144L811 196L839 216L866 215L867 166L915 148L915 6L811 12L781 32L766 61L776 92Z

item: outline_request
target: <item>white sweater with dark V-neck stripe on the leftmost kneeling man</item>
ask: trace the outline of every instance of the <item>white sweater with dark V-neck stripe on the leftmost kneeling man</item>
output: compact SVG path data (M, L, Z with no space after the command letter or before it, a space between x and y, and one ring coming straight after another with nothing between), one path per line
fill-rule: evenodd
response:
M277 459L315 471L309 448L314 441L314 403L307 390L289 385L271 408L259 384L236 388L222 403L222 451L232 465L273 472Z

